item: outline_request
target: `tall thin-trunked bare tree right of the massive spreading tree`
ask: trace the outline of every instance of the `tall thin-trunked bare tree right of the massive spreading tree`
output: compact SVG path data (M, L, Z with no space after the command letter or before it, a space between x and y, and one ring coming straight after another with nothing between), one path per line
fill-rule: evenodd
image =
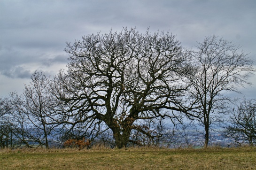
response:
M192 58L192 69L186 75L191 85L187 91L189 108L193 108L189 116L204 127L204 147L207 147L210 125L220 121L225 110L228 100L225 92L239 93L240 87L250 84L249 74L254 73L255 68L248 54L222 38L207 37L196 47L197 51L186 52Z

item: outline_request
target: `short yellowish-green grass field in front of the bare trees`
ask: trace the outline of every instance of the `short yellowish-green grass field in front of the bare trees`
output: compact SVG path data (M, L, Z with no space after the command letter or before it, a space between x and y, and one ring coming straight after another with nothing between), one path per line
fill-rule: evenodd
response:
M255 170L256 147L0 150L1 170Z

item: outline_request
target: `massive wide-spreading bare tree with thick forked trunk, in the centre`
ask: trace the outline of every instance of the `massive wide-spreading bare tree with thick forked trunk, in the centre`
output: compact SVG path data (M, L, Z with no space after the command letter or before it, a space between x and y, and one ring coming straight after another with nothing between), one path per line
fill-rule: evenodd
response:
M175 35L110 30L67 43L65 51L68 70L61 70L52 85L57 122L93 130L106 124L116 146L126 147L137 120L173 118L180 111L186 55Z

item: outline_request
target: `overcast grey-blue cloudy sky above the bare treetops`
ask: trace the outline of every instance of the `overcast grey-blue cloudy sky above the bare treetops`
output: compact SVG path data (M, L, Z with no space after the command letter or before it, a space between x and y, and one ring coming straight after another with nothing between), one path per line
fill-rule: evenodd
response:
M256 61L256 0L0 0L0 97L22 93L35 70L65 69L66 42L123 27L170 31L184 47L216 35ZM251 83L246 98L256 97Z

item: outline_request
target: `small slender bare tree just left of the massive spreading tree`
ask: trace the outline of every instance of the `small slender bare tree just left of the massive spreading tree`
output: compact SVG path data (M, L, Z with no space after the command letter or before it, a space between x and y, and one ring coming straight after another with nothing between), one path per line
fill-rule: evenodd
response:
M48 148L49 137L54 136L54 128L58 125L52 123L51 119L54 111L53 96L47 91L50 80L39 72L33 73L31 80L30 85L25 85L23 95L12 94L16 122L20 126L20 131L17 133L24 140L23 142L28 139Z

